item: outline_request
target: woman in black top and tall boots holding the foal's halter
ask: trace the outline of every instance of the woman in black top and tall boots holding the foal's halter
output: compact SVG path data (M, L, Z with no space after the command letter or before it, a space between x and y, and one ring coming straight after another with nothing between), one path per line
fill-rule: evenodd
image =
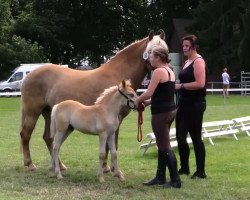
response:
M153 48L149 61L153 67L151 81L148 89L135 99L135 105L138 106L141 102L146 106L151 104L151 125L158 147L158 166L155 178L143 184L180 188L181 180L177 171L177 160L171 149L169 137L170 126L176 115L175 74L170 67L168 50L165 48ZM168 166L170 182L166 182L166 166Z

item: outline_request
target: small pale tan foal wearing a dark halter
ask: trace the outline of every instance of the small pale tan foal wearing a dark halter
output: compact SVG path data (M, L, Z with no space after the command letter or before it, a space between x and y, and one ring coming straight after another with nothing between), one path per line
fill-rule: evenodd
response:
M99 84L102 84L100 82ZM51 175L63 178L59 166L59 149L65 139L74 130L83 133L99 135L99 170L98 178L104 182L103 162L106 158L106 144L108 144L112 161L113 175L121 181L124 180L118 168L115 147L115 131L119 126L118 115L123 106L130 106L135 91L131 88L130 81L122 81L119 86L112 86L101 94L92 106L86 106L78 101L66 100L56 104L51 112L51 137L54 138L51 156ZM134 108L134 104L130 107Z

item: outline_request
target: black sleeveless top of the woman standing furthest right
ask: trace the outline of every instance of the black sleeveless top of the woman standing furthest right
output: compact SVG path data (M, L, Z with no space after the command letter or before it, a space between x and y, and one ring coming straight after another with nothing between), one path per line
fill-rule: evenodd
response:
M195 61L195 60L194 60ZM179 79L181 83L191 83L195 81L194 77L194 61L183 69L179 73ZM180 100L183 101L193 101L193 100L205 100L206 96L206 86L198 90L180 90Z

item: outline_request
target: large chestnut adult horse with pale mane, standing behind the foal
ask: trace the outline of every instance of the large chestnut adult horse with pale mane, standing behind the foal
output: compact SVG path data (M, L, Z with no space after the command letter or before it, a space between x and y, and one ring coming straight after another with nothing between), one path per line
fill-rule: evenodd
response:
M149 66L147 52L157 45L168 48L164 39L164 31L156 36L150 32L148 37L132 43L119 51L109 62L94 70L79 71L47 65L28 74L21 88L20 127L24 165L28 170L36 169L31 159L29 141L41 114L45 119L43 139L51 153L53 141L50 138L51 108L68 99L79 101L85 105L93 105L105 88L117 85L125 79L130 79L133 88L138 89ZM121 110L120 123L128 113L127 108ZM118 132L119 127L116 131L116 147L118 146ZM107 162L104 162L104 168L108 171L109 167L106 164ZM61 169L65 168L62 163L60 165Z

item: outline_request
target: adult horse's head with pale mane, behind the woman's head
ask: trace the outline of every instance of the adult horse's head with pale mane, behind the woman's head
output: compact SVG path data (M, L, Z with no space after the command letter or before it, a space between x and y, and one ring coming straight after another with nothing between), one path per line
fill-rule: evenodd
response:
M151 53L152 49L156 46L161 46L163 48L166 48L167 51L169 51L168 45L165 42L165 32L161 29L159 30L159 33L160 35L154 35L154 31L150 31L148 35L148 43L143 53L144 60L148 60L149 54Z

